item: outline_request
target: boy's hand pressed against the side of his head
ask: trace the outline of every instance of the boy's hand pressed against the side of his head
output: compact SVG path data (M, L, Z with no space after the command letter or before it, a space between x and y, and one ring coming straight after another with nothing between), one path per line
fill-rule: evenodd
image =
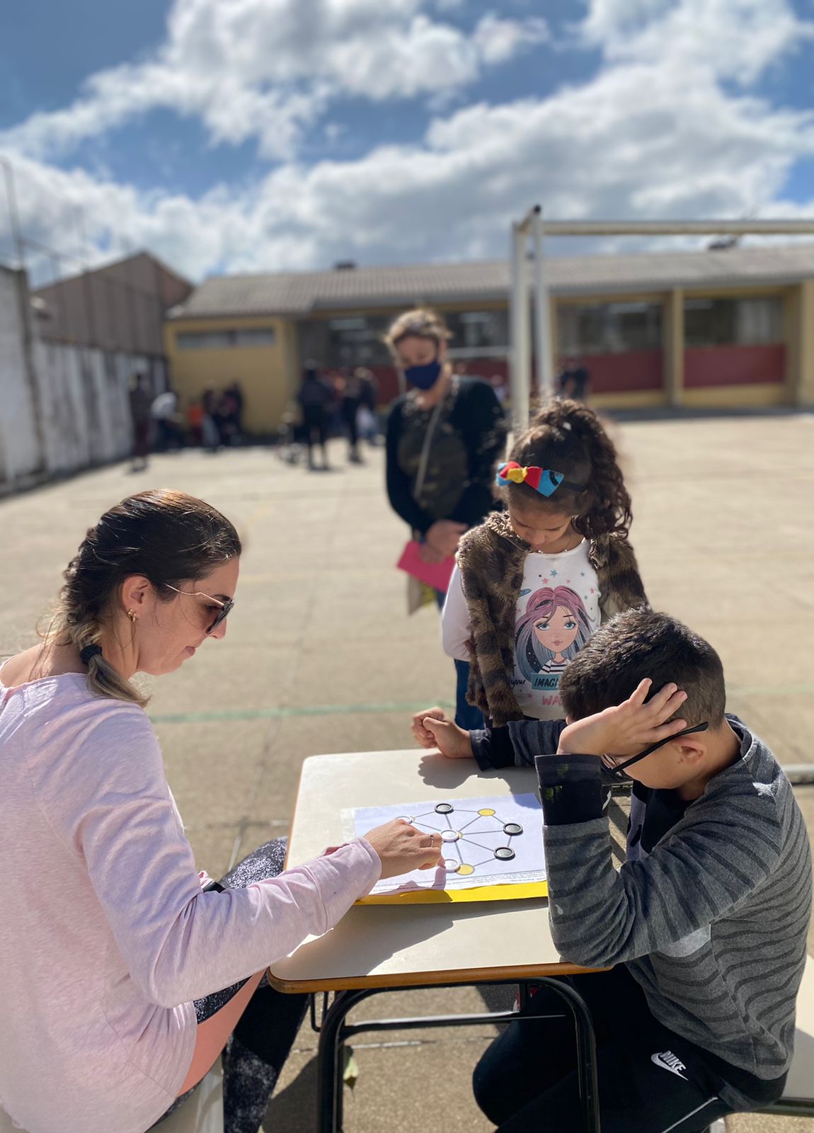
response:
M669 739L687 726L670 719L687 699L677 684L668 683L646 704L652 681L645 678L620 705L567 724L559 736L558 752L583 756L637 755L659 740Z

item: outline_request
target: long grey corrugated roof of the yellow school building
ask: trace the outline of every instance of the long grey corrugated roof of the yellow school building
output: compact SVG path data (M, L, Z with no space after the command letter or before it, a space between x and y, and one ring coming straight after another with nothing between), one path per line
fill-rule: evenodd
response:
M658 291L674 286L792 283L814 276L814 244L736 247L722 252L560 256L546 261L546 275L554 293L564 296ZM220 275L205 280L186 303L173 309L171 317L303 316L343 307L505 299L508 290L506 261Z

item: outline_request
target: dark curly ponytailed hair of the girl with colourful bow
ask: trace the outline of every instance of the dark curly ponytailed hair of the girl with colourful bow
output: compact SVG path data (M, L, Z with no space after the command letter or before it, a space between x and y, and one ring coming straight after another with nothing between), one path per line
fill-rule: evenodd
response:
M573 514L574 527L588 539L611 531L627 535L633 520L631 496L614 443L588 406L559 399L543 404L517 438L511 459L554 469L566 480L584 484L582 491L563 485L549 497L540 496L528 484L511 484L511 499Z

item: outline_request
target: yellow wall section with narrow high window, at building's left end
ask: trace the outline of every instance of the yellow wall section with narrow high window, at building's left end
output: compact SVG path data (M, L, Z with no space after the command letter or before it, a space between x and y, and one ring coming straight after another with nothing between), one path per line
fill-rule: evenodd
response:
M207 331L274 330L269 346L223 350L179 350L177 334ZM295 333L286 318L179 318L164 325L172 387L183 411L207 386L221 390L240 382L246 398L243 423L249 433L276 433L295 385Z

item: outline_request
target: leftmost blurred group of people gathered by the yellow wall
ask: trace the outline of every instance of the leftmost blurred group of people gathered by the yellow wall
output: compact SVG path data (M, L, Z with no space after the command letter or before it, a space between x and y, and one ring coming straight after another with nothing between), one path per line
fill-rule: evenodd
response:
M146 374L135 374L130 385L132 471L147 467L149 453L171 452L187 445L217 452L243 440L243 391L239 382L223 390L208 386L182 410L178 394L157 395Z

